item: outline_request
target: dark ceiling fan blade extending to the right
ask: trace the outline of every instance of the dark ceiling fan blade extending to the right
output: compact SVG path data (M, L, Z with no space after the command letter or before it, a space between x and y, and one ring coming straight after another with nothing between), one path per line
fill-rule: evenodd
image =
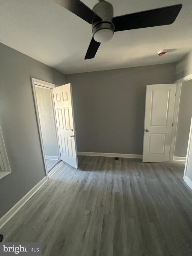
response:
M181 8L182 4L171 5L114 17L115 31L170 25L175 21Z

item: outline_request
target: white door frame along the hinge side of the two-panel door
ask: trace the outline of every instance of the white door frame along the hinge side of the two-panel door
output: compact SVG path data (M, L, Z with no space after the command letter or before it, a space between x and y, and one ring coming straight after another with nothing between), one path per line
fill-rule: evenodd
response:
M172 129L172 138L171 138L171 145L170 145L170 159L169 161L173 161L174 152L175 152L175 143L176 143L176 133L177 133L177 123L178 123L178 115L179 115L179 102L181 96L181 88L182 83L192 80L192 74L183 77L179 80L176 80L174 83L177 84L176 88L176 101L175 101L175 109L173 114L173 129Z

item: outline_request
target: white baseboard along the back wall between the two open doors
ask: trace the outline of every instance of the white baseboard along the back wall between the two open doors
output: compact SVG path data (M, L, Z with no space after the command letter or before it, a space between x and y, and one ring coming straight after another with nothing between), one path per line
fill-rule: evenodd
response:
M96 153L96 152L77 152L77 155L109 156L109 157L123 157L123 158L143 158L143 155L116 154L116 153Z

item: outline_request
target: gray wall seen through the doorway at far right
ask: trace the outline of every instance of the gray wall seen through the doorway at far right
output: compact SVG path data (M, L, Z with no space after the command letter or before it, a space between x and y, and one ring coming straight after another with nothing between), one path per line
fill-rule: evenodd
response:
M174 156L187 155L192 115L192 80L182 84Z

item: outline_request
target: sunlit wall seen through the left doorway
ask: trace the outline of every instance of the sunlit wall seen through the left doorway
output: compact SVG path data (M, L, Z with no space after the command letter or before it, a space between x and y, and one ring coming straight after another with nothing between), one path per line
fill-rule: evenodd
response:
M52 109L51 89L35 87L39 119L43 137L45 156L57 156L57 141L55 134L54 116ZM50 157L49 157L50 158Z

